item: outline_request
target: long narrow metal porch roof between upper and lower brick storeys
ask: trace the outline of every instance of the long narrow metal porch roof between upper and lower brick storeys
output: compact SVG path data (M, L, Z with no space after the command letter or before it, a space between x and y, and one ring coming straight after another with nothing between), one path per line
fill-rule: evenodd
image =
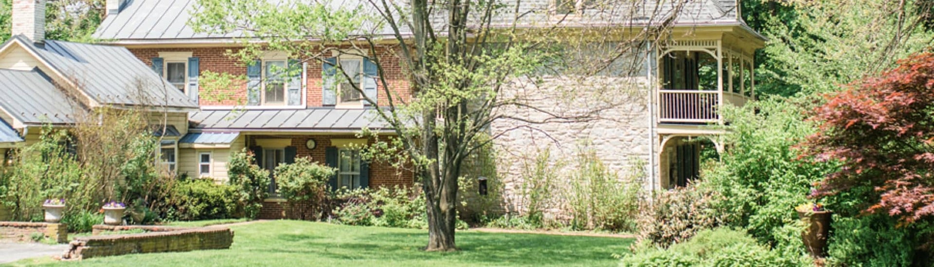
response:
M308 108L284 110L203 110L189 117L195 129L354 132L387 129L374 109Z

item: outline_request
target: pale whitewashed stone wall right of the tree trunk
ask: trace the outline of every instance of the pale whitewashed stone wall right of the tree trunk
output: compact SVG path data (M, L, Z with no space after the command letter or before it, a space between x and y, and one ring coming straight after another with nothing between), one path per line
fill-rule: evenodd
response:
M491 134L503 184L506 212L522 213L522 184L528 169L546 149L548 164L562 166L556 194L567 190L578 154L591 149L619 176L640 176L647 187L651 147L648 80L645 77L553 77L543 82L518 82L504 97L531 107L497 110L514 119L499 119ZM562 217L566 199L549 200L546 217Z

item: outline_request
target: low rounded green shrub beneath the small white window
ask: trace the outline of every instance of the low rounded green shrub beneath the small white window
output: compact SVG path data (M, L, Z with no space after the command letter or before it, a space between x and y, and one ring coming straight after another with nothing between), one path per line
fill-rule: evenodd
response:
M176 184L171 201L177 219L231 218L237 210L235 193L232 186L218 185L211 179L191 179Z

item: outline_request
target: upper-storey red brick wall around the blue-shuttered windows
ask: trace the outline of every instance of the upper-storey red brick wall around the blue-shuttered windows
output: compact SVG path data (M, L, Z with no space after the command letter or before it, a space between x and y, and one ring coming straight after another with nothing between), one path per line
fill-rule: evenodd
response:
M139 60L148 65L152 63L152 58L159 56L159 52L191 51L191 56L200 59L199 71L202 73L209 70L217 73L227 73L233 76L246 76L247 66L227 56L228 50L236 52L239 48L130 49ZM389 82L389 87L391 91L393 91L393 98L403 97L405 101L408 101L412 92L409 89L408 79L405 78L403 74L403 68L397 54L396 49L388 47L376 49L376 56L379 57L383 72ZM322 106L321 63L314 60L308 61L307 77L306 86L308 92L305 104L307 106ZM235 83L235 88L232 88L230 91L223 92L222 94L215 93L219 95L229 94L229 97L223 97L225 99L220 101L209 101L219 99L220 97L218 97L218 95L210 97L204 94L206 93L205 91L201 93L201 105L244 105L247 100L247 85L245 82L240 81ZM382 82L379 82L377 95L380 105L388 105L389 100L386 93L383 91ZM398 104L398 102L396 104Z

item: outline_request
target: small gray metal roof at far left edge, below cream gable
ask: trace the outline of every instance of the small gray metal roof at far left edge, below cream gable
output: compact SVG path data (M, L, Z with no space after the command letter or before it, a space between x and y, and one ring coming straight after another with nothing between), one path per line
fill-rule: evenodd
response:
M38 70L0 69L0 108L27 124L75 122L79 105Z

